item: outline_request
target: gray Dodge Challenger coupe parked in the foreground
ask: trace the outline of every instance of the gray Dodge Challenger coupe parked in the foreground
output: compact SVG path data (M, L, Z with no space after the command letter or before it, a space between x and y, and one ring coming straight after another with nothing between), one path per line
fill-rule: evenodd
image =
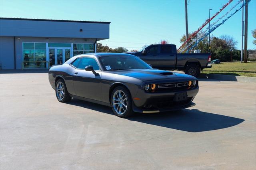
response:
M76 55L52 66L49 81L58 101L75 98L107 105L118 117L192 107L199 90L195 77L152 69L125 53Z

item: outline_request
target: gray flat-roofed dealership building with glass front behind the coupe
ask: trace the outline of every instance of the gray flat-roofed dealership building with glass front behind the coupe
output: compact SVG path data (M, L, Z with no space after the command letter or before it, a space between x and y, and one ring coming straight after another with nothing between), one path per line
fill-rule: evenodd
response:
M45 69L96 52L110 22L0 18L0 69Z

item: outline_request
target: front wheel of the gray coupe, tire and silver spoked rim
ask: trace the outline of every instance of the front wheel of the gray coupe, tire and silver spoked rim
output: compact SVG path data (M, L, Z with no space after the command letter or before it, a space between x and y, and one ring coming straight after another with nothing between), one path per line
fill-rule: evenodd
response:
M130 92L122 86L118 86L112 91L110 103L114 114L118 117L130 117L134 113Z

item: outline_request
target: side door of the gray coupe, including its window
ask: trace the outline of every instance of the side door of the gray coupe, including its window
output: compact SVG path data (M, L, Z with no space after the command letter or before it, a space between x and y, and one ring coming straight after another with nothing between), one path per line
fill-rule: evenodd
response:
M76 67L76 71L73 73L73 84L76 95L87 99L102 101L102 72L100 71L97 61L92 57L80 57L77 59L80 59L80 61L78 61L76 65L73 65ZM84 69L88 65L93 66L96 74Z

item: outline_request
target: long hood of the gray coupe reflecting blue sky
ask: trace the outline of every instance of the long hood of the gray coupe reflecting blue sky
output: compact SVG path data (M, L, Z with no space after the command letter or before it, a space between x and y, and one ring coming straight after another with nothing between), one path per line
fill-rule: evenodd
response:
M128 77L134 77L142 81L155 81L155 80L173 80L173 81L184 81L194 80L196 77L191 75L174 73L172 71L158 70L158 69L131 69L131 70L120 70L120 71L109 71L113 74L124 75Z

